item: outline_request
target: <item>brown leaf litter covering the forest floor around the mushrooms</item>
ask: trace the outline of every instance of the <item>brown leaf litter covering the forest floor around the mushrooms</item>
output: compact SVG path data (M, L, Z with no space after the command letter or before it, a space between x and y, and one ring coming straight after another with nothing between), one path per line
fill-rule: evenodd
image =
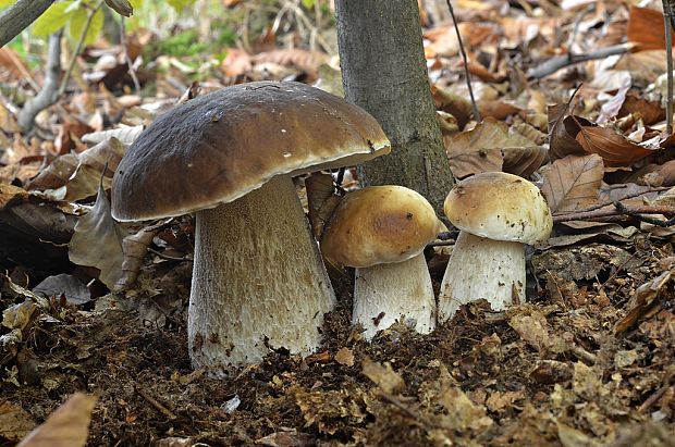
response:
M528 251L528 302L505 312L474 302L430 335L395 324L369 344L351 325L351 272L333 271L340 305L318 352L270 351L225 381L193 371L194 221L122 227L110 218L110 173L144 125L199 90L290 76L340 94L336 51L274 48L302 35L268 30L255 48L231 48L201 83L188 59L161 54L165 78L155 78L151 98L130 95L123 51L89 48L83 78L94 88L38 116L50 137L23 138L15 104L0 98L2 442L44 422L75 445L90 418L88 445L97 446L673 445L672 232L646 220L675 215L660 13L610 2L537 13L530 3L498 11L459 2L479 123L447 11L421 3L453 171L536 181L556 219L553 237ZM234 13L245 4L228 3ZM128 57L154 39L130 34ZM629 52L532 76L561 52L626 40ZM28 69L10 51L0 64L20 98ZM137 76L149 82L146 70ZM438 289L447 247L429 248L427 259Z

